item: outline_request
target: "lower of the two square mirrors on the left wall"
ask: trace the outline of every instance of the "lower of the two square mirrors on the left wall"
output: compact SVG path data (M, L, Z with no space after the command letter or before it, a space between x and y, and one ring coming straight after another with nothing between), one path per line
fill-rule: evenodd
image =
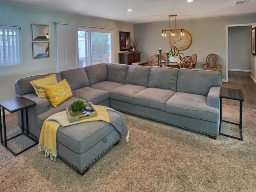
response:
M50 57L50 43L32 43L33 44L33 59Z

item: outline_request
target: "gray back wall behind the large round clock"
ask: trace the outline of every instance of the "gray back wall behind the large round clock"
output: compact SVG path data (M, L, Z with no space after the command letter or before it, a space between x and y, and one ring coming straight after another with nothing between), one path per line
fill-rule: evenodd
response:
M256 23L256 14L246 14L240 16L226 16L216 18L202 18L192 20L178 20L177 29L185 28L192 36L191 46L181 51L184 55L198 55L196 68L200 68L205 63L206 56L216 53L220 57L223 65L222 79L226 79L226 25ZM171 20L171 28L174 20ZM142 40L138 49L142 51L143 60L151 60L151 55L156 53L158 47L163 50L170 49L168 37L162 37L162 30L169 28L169 19L166 22L154 22L134 25L134 37L141 37Z

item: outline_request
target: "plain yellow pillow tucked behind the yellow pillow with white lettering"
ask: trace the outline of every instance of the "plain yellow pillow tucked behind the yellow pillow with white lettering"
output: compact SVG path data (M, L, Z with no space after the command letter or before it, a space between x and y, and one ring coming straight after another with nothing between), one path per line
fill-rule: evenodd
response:
M45 94L44 87L48 86L48 85L54 85L54 84L58 83L58 81L56 79L56 75L51 74L51 75L48 75L46 77L30 81L30 83L34 87L36 95L38 97L42 97L42 98L46 99L48 101L48 105L50 105L48 97Z

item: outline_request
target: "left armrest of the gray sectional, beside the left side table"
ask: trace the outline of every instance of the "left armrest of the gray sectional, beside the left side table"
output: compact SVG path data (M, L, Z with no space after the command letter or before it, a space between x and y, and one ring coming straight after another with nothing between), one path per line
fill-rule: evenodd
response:
M21 96L36 102L36 116L48 111L48 102L46 99L38 97L34 94L26 94Z

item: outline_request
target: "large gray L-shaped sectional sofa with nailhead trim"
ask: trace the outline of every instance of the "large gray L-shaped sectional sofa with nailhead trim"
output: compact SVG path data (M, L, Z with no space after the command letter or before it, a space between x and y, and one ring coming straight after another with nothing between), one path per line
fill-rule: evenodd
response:
M56 108L37 97L30 84L49 74L23 77L15 83L16 97L23 96L37 103L28 109L30 133L36 139L45 119L66 110L78 98L213 139L218 136L222 85L219 72L101 63L55 74L58 82L67 80L73 93ZM20 116L18 121L20 124Z

